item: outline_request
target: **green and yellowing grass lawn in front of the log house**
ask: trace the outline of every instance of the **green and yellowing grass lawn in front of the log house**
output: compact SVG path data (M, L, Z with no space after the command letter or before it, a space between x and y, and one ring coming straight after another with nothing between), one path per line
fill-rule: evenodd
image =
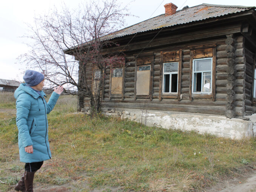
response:
M69 184L76 186L74 191L84 191L84 183L106 191L202 191L254 166L253 138L230 140L118 118L90 118L68 113L76 109L68 109L67 101L61 100L48 115L52 159L37 172L37 183ZM0 180L9 183L0 184L0 190L8 191L23 164L13 119L0 124Z

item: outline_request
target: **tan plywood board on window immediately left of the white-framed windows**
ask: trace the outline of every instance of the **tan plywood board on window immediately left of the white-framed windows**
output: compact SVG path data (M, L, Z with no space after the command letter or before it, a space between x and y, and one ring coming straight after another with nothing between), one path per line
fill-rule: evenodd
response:
M150 70L137 71L136 95L149 95Z

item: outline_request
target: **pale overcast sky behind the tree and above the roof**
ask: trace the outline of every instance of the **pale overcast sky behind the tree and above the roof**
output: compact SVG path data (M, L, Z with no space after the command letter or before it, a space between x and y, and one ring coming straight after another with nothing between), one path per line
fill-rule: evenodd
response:
M86 1L86 0L85 0ZM25 65L16 58L28 52L26 39L20 38L26 34L26 24L33 23L37 15L47 13L53 6L60 7L63 0L9 0L2 1L0 6L0 79L23 81ZM67 6L76 8L82 0L65 0ZM130 0L119 0L126 5ZM134 0L128 5L130 14L138 17L126 18L126 26L139 23L148 18L163 14L163 5L175 4L179 9L188 5L196 6L202 3L216 5L256 6L256 0Z

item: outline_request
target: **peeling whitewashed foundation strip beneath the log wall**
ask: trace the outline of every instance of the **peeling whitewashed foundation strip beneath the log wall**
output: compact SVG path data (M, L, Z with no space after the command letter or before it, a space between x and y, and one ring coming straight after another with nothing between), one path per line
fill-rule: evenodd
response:
M108 116L127 118L147 126L197 131L200 134L207 133L231 139L250 138L254 137L256 133L256 121L229 119L221 115L120 108L117 110L103 109L102 113Z

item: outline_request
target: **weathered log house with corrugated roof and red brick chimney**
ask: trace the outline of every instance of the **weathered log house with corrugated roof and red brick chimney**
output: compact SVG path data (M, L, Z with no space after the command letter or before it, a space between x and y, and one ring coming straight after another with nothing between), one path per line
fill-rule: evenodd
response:
M255 113L255 7L176 9L169 3L165 14L103 37L120 45L103 54L125 55L119 77L113 69L105 71L104 106L141 109L146 103L151 110L227 118ZM93 74L89 65L84 66L88 75ZM86 106L88 98L79 100Z

